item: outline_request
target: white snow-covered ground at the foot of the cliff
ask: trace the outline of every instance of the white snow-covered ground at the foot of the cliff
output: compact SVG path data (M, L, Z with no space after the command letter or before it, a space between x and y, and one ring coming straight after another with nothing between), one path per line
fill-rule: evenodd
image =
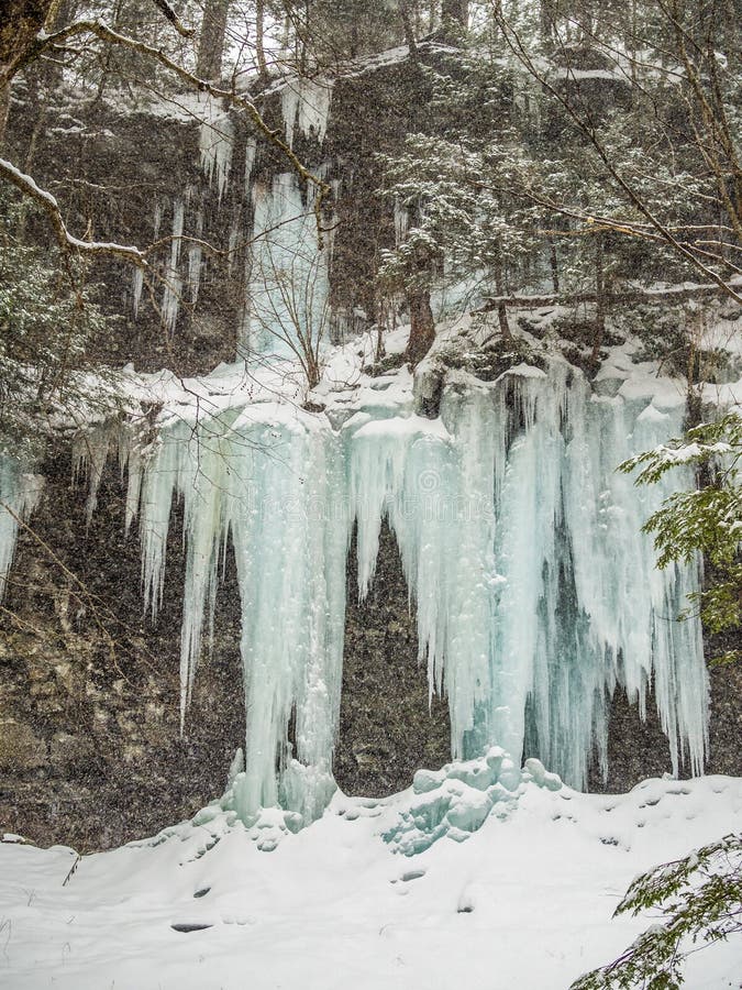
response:
M528 783L466 842L405 857L380 835L411 796L339 792L272 853L229 816L86 856L71 876L71 849L2 844L0 986L566 990L651 923L611 920L638 872L742 826L739 779L618 798ZM690 956L687 987L739 988L741 974L738 936Z

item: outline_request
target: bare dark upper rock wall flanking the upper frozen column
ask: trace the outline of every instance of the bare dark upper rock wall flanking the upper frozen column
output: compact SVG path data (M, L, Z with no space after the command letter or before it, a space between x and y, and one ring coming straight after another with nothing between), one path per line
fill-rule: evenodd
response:
M440 61L435 47L421 47L424 61ZM133 362L139 370L169 367L177 374L210 371L234 361L244 304L246 244L251 234L252 201L245 189L247 141L255 132L244 113L231 111L234 146L230 182L220 199L200 164L199 127L188 114L180 119L154 111L133 110L130 98L117 106L114 92L106 100L41 105L33 87L13 91L8 141L12 158L31 172L57 197L69 229L78 237L118 241L151 249L147 280L155 304L162 305L170 255L173 205L186 200L186 237L200 237L214 249L204 253L198 301L184 292L175 332L162 326L160 314L145 286L136 319L132 310L132 266L117 260L97 260L89 283L101 286L104 308L121 319L95 343L89 358L112 365ZM266 122L284 134L277 96L256 98ZM369 322L377 316L375 275L379 252L395 243L394 205L380 195L380 154L403 147L406 134L430 127L429 82L421 68L408 61L367 68L362 75L339 78L324 143L297 131L294 150L310 168L322 169L336 197L328 204L332 227L331 301L342 333L354 309ZM173 94L171 109L192 102L192 94ZM257 140L252 180L267 186L289 169L286 158L265 140ZM162 222L155 230L155 208ZM202 232L197 230L202 216ZM40 243L48 243L45 218L30 224ZM237 229L230 256L230 235ZM328 250L330 239L328 239ZM187 267L181 249L180 270Z

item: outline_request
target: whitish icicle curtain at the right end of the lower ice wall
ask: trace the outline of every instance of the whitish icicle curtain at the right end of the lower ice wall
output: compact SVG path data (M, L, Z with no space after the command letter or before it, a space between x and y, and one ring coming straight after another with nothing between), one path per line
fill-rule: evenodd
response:
M690 487L689 470L669 472L656 485L636 488L616 464L683 432L684 404L591 396L585 385L571 391L564 470L564 505L569 531L574 594L584 616L584 650L594 672L595 721L605 746L606 712L597 695L601 661L605 686L613 676L642 715L650 688L668 736L673 769L689 758L702 770L707 745L707 675L697 618L678 622L687 595L699 584L699 564L660 571L646 519L672 492ZM584 624L585 625L585 624ZM605 697L605 693L603 693ZM562 724L564 716L557 719ZM561 728L562 735L564 728ZM589 741L589 727L584 725ZM542 735L544 733L542 732ZM554 732L550 733L555 738ZM551 743L553 749L555 744ZM543 746L542 746L543 749ZM551 754L550 754L551 755ZM600 752L605 769L605 750Z

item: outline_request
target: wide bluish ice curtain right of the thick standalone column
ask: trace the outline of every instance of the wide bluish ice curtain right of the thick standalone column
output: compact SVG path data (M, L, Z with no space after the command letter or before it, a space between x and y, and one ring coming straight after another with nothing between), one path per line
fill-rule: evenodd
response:
M566 363L486 385L459 376L444 425L359 414L346 426L358 586L373 579L381 518L418 603L431 689L445 691L452 750L498 744L586 783L605 769L617 685L642 713L651 686L672 763L706 749L697 619L677 620L694 568L658 571L647 516L689 479L636 491L617 464L682 430L667 408L593 396Z

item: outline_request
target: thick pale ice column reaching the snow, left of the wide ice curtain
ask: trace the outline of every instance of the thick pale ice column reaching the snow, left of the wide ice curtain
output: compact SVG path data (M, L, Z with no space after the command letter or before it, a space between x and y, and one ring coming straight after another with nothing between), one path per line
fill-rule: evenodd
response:
M251 497L232 521L248 713L241 800L250 811L280 798L311 821L334 790L347 547L339 449L283 407L251 436Z

